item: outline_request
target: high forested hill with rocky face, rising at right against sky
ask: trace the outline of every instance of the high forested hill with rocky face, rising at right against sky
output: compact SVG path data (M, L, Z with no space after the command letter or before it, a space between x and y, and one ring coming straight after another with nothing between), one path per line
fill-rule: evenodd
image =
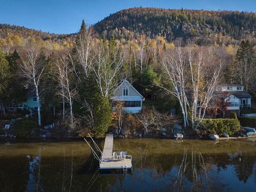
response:
M221 33L241 39L246 35L255 37L256 14L238 11L131 8L105 17L94 28L107 38L111 34L125 39L145 34L152 38L162 35L167 40L174 40L178 37Z

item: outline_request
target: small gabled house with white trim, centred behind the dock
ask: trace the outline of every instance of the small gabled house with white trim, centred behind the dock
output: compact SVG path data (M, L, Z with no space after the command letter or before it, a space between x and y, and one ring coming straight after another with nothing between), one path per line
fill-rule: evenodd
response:
M126 79L114 91L114 96L111 97L111 100L113 108L115 102L123 101L123 109L127 113L139 113L142 109L143 96Z

